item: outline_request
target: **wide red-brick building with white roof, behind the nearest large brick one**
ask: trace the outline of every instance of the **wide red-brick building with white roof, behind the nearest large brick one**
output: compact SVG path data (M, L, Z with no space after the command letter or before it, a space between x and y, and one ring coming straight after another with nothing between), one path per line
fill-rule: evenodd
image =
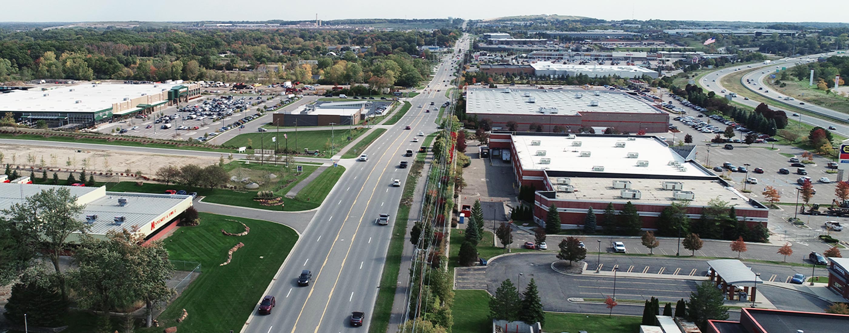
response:
M607 90L469 88L466 114L491 119L494 127L502 129L510 121L518 130L540 125L544 132L555 127L575 133L582 127L597 128L599 133L607 127L632 133L665 133L669 129L669 114L660 106Z

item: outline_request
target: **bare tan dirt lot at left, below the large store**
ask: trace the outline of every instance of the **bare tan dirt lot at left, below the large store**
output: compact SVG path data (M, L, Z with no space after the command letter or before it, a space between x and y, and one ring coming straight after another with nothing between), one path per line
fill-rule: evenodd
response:
M186 164L197 164L204 167L218 163L218 158L181 157L177 155L162 155L155 153L122 153L117 150L82 150L65 147L37 147L28 145L0 144L0 164L12 164L20 169L74 169L94 172L125 172L142 175L154 175L163 165L174 165L177 168Z

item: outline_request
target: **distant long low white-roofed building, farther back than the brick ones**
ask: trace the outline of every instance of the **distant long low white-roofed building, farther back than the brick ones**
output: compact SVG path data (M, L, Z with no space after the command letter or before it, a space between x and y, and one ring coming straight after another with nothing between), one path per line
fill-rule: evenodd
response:
M561 76L561 75L588 75L597 76L619 76L625 78L641 78L647 75L656 79L659 75L656 71L640 66L619 66L603 64L557 64L548 61L531 63L534 75L537 76Z

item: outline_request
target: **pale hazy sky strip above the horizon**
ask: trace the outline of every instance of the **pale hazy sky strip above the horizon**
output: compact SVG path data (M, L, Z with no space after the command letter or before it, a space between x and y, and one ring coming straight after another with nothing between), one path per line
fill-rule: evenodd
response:
M285 0L41 0L37 5L9 0L0 21L200 21L319 19L434 19L448 16L490 19L524 14L560 14L595 19L692 19L753 22L849 23L849 1L798 0L323 0L316 3Z

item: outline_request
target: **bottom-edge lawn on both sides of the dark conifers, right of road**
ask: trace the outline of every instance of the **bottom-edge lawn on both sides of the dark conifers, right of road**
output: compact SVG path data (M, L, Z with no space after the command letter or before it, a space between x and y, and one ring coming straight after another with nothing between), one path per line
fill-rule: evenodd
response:
M543 295L543 297L545 297ZM453 333L492 331L489 319L489 294L486 291L455 290ZM637 332L643 319L637 316L603 314L563 314L546 312L543 330L547 332Z

